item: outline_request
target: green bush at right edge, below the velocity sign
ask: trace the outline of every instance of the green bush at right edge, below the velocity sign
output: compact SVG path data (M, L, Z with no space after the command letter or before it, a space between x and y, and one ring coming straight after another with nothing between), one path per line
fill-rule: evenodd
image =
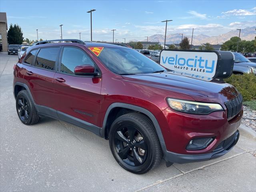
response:
M232 75L225 82L236 87L244 101L256 99L256 76L254 74Z

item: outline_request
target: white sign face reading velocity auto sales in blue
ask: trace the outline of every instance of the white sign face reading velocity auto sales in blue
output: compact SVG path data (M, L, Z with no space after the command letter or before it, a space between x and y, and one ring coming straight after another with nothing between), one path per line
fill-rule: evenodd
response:
M216 73L216 52L162 50L160 64L170 70L213 78Z

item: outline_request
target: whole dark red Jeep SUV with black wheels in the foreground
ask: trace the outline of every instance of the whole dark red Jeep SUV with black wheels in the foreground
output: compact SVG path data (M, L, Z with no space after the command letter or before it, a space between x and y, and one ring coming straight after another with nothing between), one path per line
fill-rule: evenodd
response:
M210 160L238 141L242 96L230 84L172 74L131 48L62 41L39 42L14 66L22 123L47 116L90 130L136 174L162 157L167 166Z

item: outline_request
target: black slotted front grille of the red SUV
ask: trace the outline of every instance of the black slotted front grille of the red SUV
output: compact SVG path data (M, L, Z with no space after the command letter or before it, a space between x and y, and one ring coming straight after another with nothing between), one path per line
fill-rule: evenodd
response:
M231 118L236 116L242 108L243 97L241 94L236 96L234 99L224 102L227 107L227 117Z

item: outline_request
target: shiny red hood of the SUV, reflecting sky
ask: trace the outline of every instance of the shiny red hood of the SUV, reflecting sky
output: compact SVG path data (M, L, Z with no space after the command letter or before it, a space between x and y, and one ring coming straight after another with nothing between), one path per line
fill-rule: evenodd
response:
M154 88L170 90L170 95L186 94L196 101L224 103L238 95L234 86L219 80L204 81L171 72L123 76L124 79ZM178 93L178 94L177 94Z

